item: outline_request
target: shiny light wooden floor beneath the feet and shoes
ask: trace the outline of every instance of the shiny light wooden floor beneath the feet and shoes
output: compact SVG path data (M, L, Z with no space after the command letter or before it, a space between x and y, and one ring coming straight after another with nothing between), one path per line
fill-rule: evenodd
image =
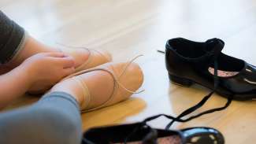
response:
M143 68L142 94L126 102L82 115L83 129L143 120L158 113L178 115L209 92L203 87L169 83L164 50L167 39L224 39L224 53L256 65L256 1L254 0L1 0L0 9L35 38L53 46L109 50L114 61L137 62ZM38 98L24 97L13 107ZM217 94L200 111L224 105ZM164 127L169 120L150 123ZM228 144L256 142L256 102L233 102L227 110L173 128L207 126L223 132Z

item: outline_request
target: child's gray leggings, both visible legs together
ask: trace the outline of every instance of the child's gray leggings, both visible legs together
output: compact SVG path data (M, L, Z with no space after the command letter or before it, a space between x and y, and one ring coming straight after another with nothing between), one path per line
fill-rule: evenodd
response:
M22 49L24 29L0 10L0 64ZM0 113L2 144L80 144L80 109L71 95L46 94L34 105Z

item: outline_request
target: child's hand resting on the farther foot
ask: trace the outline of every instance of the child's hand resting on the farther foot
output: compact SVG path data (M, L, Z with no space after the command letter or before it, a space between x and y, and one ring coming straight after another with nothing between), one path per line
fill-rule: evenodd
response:
M65 76L75 72L72 57L62 53L35 54L20 66L25 68L31 78L31 90L46 90Z

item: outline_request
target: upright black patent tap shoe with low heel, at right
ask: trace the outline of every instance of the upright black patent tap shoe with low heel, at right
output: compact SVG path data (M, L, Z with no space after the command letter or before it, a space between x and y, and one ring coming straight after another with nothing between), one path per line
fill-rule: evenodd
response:
M236 100L256 98L256 67L221 53L223 47L221 39L209 39L206 42L170 39L165 49L169 79L187 87L198 83L221 96L232 96ZM216 87L214 70L218 81Z

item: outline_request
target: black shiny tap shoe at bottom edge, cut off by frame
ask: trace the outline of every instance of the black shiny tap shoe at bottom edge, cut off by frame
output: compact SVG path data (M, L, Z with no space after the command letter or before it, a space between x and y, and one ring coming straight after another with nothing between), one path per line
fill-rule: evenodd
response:
M147 120L152 120L152 117ZM147 120L135 124L92 128L83 134L83 144L224 144L221 132L210 127L163 130L150 127L146 124Z

